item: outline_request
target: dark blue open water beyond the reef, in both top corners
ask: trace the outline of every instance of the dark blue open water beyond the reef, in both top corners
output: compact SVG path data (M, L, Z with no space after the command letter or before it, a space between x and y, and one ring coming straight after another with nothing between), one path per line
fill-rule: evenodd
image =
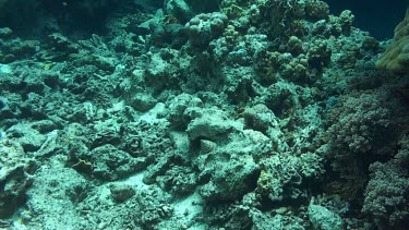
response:
M44 15L52 15L59 24L70 31L84 29L85 33L100 34L104 21L113 12L118 4L130 0L105 0L108 8L100 11L87 12L79 10L84 0L10 0L12 8L1 12L0 26L12 27L17 34L36 36L44 21ZM395 26L404 19L409 0L325 0L330 7L330 13L339 15L342 10L351 10L356 15L354 26L377 39L389 39ZM103 0L95 0L95 3ZM163 0L153 0L152 7L163 7ZM36 9L33 11L33 9Z

